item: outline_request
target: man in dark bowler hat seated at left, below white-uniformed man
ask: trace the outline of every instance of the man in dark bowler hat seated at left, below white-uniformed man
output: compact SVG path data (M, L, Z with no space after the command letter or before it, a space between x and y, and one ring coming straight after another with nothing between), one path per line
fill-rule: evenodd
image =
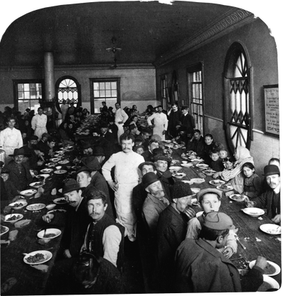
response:
M13 150L13 154L9 155L13 158L8 164L5 166L8 170L10 170L10 180L13 184L15 184L18 192L25 190L28 187L28 184L33 182L33 177L30 174L30 166L28 162L23 162L25 157L30 157L25 153L23 147L16 148Z

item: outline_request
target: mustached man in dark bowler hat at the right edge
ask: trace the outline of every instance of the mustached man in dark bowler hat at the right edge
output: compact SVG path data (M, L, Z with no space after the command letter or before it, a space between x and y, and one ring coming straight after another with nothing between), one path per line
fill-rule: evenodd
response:
M263 175L270 188L251 201L248 199L248 196L245 196L246 206L266 208L267 217L274 223L280 224L282 219L282 190L279 167L277 165L266 165Z

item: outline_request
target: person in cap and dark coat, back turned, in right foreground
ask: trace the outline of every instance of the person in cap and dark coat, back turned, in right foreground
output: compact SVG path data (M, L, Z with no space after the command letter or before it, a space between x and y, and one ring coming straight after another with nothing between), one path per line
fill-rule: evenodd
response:
M263 283L264 257L242 278L236 266L216 249L226 245L233 221L225 213L209 212L199 239L185 239L175 254L176 292L240 293L255 292Z

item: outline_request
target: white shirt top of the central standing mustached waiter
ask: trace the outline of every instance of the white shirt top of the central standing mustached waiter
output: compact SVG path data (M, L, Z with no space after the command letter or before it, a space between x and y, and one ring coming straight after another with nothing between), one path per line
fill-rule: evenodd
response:
M115 166L115 182L118 184L130 184L139 182L138 168L144 157L131 151L114 153L102 167L103 177L106 181L112 180L111 169Z

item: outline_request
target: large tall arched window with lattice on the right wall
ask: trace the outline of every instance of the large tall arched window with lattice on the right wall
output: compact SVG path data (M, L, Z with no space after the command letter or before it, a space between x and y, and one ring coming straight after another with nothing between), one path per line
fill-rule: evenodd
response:
M234 42L226 55L224 69L226 137L229 148L250 148L250 68L242 45Z

